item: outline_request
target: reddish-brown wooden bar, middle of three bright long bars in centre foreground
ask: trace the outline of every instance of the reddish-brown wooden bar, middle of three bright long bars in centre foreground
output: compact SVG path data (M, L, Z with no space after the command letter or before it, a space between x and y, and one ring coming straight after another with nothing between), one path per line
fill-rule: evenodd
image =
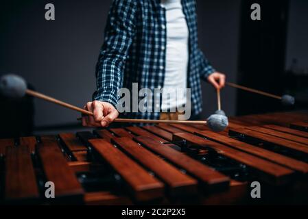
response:
M198 182L195 179L183 174L176 167L168 164L130 138L114 138L112 142L115 142L126 153L134 157L137 162L163 180L172 196L196 194Z

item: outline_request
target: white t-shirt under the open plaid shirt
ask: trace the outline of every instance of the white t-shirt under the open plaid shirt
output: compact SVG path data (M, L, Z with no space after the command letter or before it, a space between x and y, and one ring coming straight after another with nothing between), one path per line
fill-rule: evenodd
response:
M161 110L186 103L189 30L181 0L161 0L166 10L167 47Z

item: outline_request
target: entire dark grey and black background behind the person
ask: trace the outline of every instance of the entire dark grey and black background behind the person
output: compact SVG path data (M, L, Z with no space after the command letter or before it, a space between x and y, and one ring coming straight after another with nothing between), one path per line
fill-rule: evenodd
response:
M0 75L19 74L36 90L82 107L95 90L95 64L110 2L1 0ZM47 3L54 3L56 21L45 20ZM260 3L261 21L250 19L252 3ZM228 81L278 95L293 94L296 107L306 107L307 0L198 0L197 5L200 47ZM206 118L217 103L208 83L202 83L202 90ZM33 119L36 133L73 130L79 116L39 99L34 100L33 116L31 107L15 103L17 110L10 110L5 109L7 103L1 102L1 114L6 114L1 129L8 123L21 127L23 119ZM274 99L234 88L222 91L222 108L229 116L290 110Z

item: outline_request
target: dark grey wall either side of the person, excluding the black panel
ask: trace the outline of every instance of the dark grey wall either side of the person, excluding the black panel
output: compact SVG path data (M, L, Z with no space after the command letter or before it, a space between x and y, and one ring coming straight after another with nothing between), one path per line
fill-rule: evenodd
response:
M36 90L82 107L95 90L95 63L104 39L110 0L1 1L0 73L17 73ZM198 0L200 47L215 68L236 78L239 0ZM56 21L45 20L54 3ZM215 92L203 84L204 116L216 110ZM222 106L235 113L235 92L222 93ZM34 100L35 125L75 123L79 115Z

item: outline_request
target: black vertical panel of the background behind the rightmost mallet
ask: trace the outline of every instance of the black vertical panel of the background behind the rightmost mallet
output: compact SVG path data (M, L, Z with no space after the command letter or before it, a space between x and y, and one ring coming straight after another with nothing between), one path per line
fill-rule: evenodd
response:
M250 5L261 5L261 21L250 19ZM243 1L239 50L239 83L272 94L283 94L288 0ZM238 91L238 114L281 109L280 101ZM249 104L247 104L249 103Z

